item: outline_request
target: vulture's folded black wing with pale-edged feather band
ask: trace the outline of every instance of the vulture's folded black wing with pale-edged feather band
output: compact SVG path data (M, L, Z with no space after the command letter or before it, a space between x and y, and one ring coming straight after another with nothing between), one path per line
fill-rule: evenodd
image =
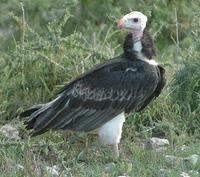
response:
M111 60L72 81L55 100L32 112L27 127L34 135L48 129L93 130L121 112L143 109L159 82L156 66L142 60Z

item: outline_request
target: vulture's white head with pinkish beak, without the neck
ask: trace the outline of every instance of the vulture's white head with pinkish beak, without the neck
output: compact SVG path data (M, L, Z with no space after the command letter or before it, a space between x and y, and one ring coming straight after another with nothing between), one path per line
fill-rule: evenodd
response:
M132 32L140 31L142 32L147 23L147 16L141 12L133 11L118 21L118 27L120 29L126 28Z

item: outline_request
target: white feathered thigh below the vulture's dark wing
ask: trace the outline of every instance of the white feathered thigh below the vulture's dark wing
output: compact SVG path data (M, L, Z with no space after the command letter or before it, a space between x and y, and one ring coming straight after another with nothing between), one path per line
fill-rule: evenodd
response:
M124 112L99 128L99 137L103 144L118 144L121 139L122 127L125 122Z

